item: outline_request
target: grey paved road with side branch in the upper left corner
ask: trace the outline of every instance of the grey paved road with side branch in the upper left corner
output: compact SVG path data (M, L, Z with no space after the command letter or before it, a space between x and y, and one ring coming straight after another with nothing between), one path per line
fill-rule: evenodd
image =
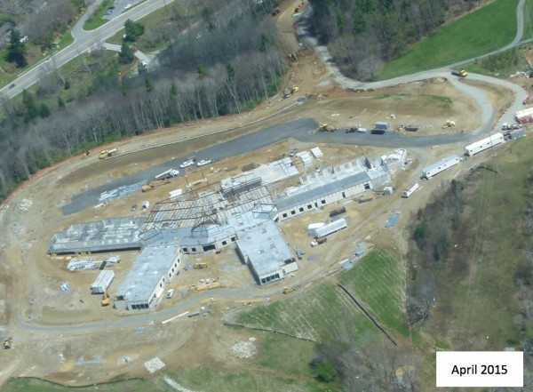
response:
M13 81L15 87L9 89L5 86L0 89L0 94L7 98L12 98L22 92L23 89L31 87L36 84L43 75L51 73L55 68L59 68L68 61L75 59L81 53L90 51L92 48L99 48L109 36L114 36L117 31L123 28L124 22L128 19L139 20L151 12L155 12L159 8L170 4L174 0L147 0L146 2L131 8L128 12L124 12L114 20L108 21L105 25L91 31L84 30L84 22L87 20L96 7L103 0L97 0L88 8L84 16L76 22L72 28L72 36L74 36L74 43L68 45L65 49L52 55L51 58L45 60L36 67L28 69L25 73L20 75Z

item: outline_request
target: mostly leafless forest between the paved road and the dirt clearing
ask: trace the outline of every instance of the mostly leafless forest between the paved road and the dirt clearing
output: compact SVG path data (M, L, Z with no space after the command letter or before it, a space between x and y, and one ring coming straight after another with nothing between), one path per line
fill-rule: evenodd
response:
M187 31L170 29L171 44L159 54L157 67L139 67L137 76L128 77L118 72L116 56L110 64L102 60L95 82L68 105L58 97L57 110L36 97L70 87L59 69L43 78L36 94L2 100L0 197L39 169L85 149L240 113L273 95L286 70L269 21L275 4L211 1Z

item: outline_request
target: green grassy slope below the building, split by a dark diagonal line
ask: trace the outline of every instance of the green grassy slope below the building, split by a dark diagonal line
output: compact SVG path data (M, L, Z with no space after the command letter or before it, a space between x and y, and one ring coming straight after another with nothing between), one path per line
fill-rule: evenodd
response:
M378 322L407 333L403 312L404 274L390 254L376 249L362 258L339 281ZM350 332L354 341L379 333L370 319L335 284L327 282L288 300L254 308L238 316L238 324L284 332L310 340L330 340Z

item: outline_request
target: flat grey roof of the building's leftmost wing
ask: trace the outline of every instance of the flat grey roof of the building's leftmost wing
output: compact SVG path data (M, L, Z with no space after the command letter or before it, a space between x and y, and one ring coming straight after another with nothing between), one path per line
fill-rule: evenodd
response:
M146 218L109 218L71 225L55 233L49 253L110 252L140 249L140 228Z

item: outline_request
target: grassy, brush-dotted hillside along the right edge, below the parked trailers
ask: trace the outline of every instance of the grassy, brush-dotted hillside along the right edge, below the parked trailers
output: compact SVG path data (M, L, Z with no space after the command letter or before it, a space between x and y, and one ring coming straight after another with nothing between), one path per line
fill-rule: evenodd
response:
M422 249L412 246L410 290L421 302L427 293L430 311L421 331L439 347L502 350L533 340L527 311L533 295L533 141L522 138L498 149L498 174L478 169L457 183L462 211L442 203L452 187L418 214L417 228L423 220L428 226L418 230ZM493 168L489 153L482 154ZM437 243L447 243L440 260L434 257Z

